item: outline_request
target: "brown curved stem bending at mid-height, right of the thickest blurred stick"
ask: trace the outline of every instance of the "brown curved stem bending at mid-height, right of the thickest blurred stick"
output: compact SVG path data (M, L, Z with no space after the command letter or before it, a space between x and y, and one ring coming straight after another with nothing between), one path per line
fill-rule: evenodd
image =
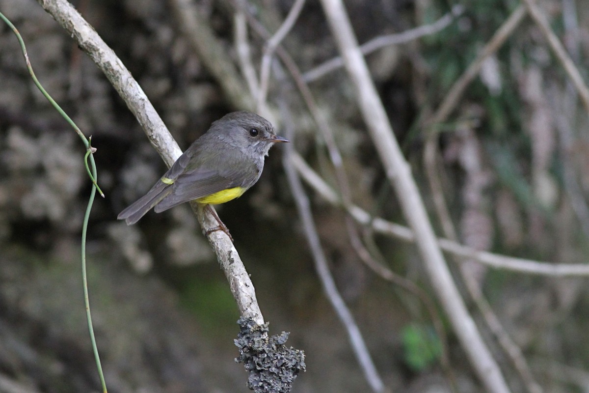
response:
M446 99L439 106L438 110L436 110L432 116L432 119L428 123L428 126L431 128L429 129L430 133L428 134L425 148L423 150L423 161L425 163L426 176L428 178L429 186L432 190L434 206L436 213L438 214L438 218L442 224L442 230L444 231L446 237L454 240L455 242L458 241L458 235L456 235L454 223L452 223L450 213L448 212L448 207L446 206L444 191L442 190L442 184L439 175L440 169L436 162L438 158L438 133L435 131L435 127L437 124L444 122L446 118L448 118L449 114L458 104L459 98L466 90L466 87L479 74L484 61L487 60L490 55L497 52L501 45L507 41L509 37L511 37L512 32L515 30L515 28L518 27L525 14L525 8L522 5L512 12L507 21L505 21L504 24L499 27L491 40L489 40L488 44L485 45L481 51L481 54L479 54L472 64L469 65L458 81L455 82L449 93L446 95ZM475 303L477 303L477 306L484 317L485 323L495 334L495 336L497 336L499 344L508 354L515 368L519 372L519 375L521 375L522 381L524 381L528 391L532 393L540 393L542 389L535 381L532 372L528 367L524 356L522 355L521 349L519 349L515 342L512 341L501 323L499 323L499 319L492 311L492 308L488 304L487 300L482 296L482 292L477 289L477 283L473 282L472 277L462 270L461 276L466 283L466 289L468 289L472 299L474 299Z

